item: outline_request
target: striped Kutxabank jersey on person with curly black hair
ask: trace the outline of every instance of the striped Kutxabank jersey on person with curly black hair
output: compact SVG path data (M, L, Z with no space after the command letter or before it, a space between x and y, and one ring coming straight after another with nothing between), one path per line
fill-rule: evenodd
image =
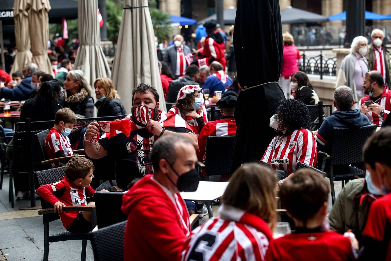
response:
M316 167L317 145L310 130L295 130L287 137L276 136L270 142L261 162L269 164L273 169L286 171L288 174L296 170L299 162Z

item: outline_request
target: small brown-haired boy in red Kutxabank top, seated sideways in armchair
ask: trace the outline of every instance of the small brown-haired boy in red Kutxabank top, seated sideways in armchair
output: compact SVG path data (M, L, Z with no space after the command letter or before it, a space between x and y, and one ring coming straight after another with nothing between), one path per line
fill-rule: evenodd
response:
M91 212L63 211L65 206L91 206L87 204L86 194L93 196L94 189L90 187L94 165L91 160L83 157L71 158L65 165L65 176L62 180L38 188L39 196L54 206L66 230L71 233L87 233L91 231ZM109 192L105 189L102 191Z

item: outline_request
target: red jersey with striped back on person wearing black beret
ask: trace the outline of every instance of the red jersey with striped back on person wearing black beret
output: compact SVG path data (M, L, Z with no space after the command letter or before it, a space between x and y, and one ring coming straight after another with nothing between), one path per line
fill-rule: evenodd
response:
M206 137L208 136L235 136L236 121L233 116L224 116L217 121L209 121L205 124L198 136L197 157L203 160L206 150Z

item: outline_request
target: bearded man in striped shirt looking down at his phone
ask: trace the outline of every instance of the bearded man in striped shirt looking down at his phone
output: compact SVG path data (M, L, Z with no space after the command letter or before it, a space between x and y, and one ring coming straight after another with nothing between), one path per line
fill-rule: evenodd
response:
M384 78L378 71L367 72L362 87L366 96L359 102L360 112L371 124L380 127L391 111L391 91L385 88Z

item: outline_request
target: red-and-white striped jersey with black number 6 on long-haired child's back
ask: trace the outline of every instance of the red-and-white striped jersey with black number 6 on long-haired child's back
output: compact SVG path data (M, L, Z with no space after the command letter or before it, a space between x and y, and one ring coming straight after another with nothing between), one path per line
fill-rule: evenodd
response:
M273 236L264 220L229 205L221 205L219 215L193 230L181 261L265 259Z

